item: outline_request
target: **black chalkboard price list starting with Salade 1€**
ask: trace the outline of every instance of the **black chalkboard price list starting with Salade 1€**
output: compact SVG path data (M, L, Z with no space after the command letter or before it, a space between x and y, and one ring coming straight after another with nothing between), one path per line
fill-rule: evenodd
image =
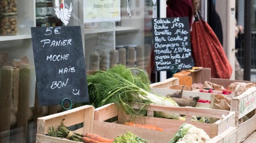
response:
M191 69L188 17L153 18L152 29L155 70Z

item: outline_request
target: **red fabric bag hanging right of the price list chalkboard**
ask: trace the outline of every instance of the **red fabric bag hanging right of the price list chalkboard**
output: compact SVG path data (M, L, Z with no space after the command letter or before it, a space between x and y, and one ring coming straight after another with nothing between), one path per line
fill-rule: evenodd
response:
M194 21L191 47L196 66L211 68L211 77L230 79L232 67L213 29L204 20Z

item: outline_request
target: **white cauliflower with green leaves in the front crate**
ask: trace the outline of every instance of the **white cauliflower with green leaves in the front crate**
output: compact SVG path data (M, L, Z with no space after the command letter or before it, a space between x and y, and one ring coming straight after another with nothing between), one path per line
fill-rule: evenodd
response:
M185 142L185 143L206 143L210 137L203 129L196 128L191 124L184 123L175 133L173 139L169 143Z

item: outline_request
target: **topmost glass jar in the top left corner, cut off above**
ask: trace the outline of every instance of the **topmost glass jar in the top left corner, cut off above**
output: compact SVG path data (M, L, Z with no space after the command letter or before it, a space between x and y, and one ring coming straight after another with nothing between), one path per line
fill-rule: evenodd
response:
M0 12L16 13L17 1L16 0L0 0Z

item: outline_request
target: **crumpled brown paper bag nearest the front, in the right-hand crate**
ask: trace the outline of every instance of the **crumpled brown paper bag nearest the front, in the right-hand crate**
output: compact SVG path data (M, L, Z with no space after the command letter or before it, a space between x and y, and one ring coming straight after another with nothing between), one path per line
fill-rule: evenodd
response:
M230 111L231 98L224 97L221 94L214 96L213 107L211 109Z

